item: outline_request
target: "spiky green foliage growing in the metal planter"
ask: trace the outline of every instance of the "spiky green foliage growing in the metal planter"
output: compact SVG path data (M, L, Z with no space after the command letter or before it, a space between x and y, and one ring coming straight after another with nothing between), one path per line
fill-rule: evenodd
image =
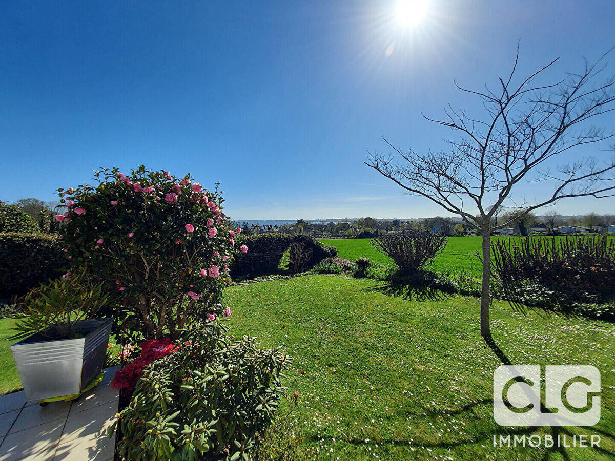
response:
M77 268L56 280L41 283L23 300L26 317L15 325L15 338L33 333L51 338L70 337L77 321L95 317L105 306L108 294L85 272ZM53 327L53 328L52 328Z

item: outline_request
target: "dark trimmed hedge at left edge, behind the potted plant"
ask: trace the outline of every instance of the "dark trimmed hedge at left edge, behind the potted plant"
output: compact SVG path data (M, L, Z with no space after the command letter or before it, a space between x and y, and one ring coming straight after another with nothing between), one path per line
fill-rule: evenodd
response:
M62 274L68 260L57 234L0 234L0 298L25 294Z

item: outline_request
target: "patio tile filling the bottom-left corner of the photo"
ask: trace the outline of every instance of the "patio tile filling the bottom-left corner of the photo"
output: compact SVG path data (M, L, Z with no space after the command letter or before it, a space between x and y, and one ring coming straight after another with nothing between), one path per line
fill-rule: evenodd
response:
M57 419L7 435L0 446L0 461L53 460L63 427L64 419Z

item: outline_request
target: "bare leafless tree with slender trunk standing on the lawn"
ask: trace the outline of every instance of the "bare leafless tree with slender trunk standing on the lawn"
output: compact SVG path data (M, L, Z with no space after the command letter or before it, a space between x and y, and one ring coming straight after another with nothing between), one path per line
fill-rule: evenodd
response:
M462 92L482 100L483 119L469 117L463 109L452 106L445 109L445 120L425 117L459 135L457 140L448 140L450 150L402 151L385 140L396 153L375 152L366 162L408 193L422 195L480 229L480 332L485 337L491 336L490 235L509 224L499 219L493 225L498 209L512 205L529 213L567 197L615 195L615 159L598 165L591 157L579 157L571 164L558 165L564 152L613 136L591 124L615 105L614 77L597 82L606 67L606 55L593 64L585 61L579 74L566 73L560 81L545 84L539 81L557 59L519 82L515 74L517 50L510 75L498 79L497 89L474 91L456 84ZM405 160L403 163L399 163L397 154ZM552 168L554 164L558 166ZM553 192L533 202L515 203L511 192L523 181L550 183ZM476 210L475 216L472 212Z

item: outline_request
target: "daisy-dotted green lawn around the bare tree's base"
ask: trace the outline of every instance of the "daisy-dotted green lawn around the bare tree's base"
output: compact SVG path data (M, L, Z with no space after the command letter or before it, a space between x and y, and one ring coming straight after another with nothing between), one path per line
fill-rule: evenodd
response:
M373 280L310 275L228 290L231 333L295 357L287 384L301 394L287 437L316 459L613 459L592 449L492 447L512 433L493 420L493 372L513 364L593 364L602 372L601 431L615 452L615 325L491 310L498 357L478 329L478 299L405 301ZM301 373L301 370L305 374ZM550 433L549 428L516 429Z

